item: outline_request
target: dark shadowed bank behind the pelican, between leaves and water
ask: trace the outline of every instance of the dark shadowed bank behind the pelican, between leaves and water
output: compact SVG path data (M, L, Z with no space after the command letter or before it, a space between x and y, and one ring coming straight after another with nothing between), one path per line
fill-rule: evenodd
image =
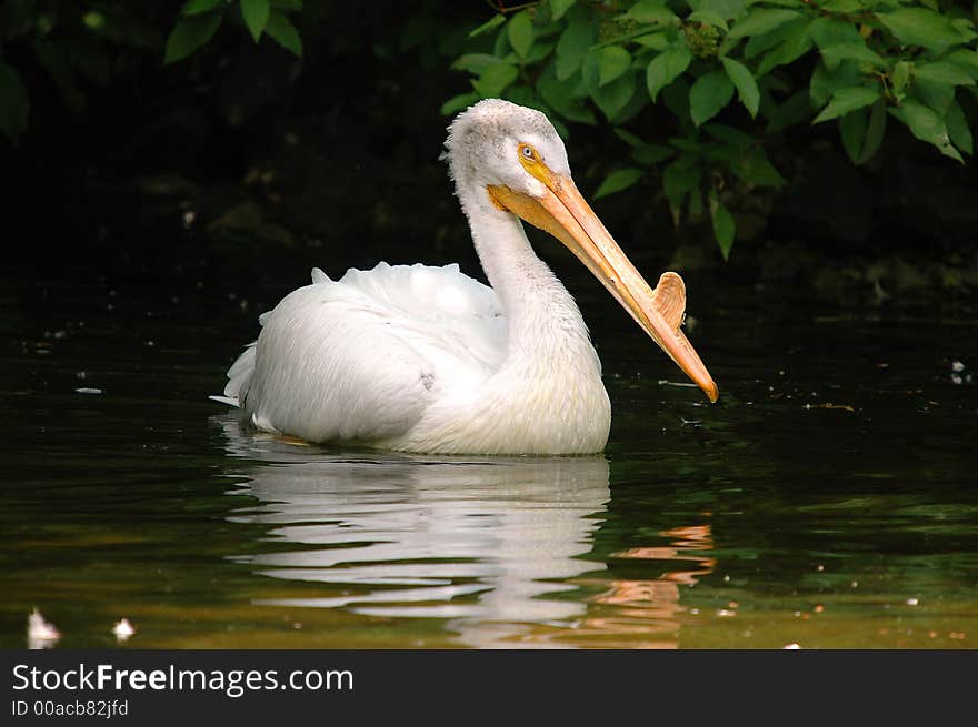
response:
M311 264L340 274L380 259L458 261L475 274L438 161L448 122L439 107L469 90L450 62L491 9L318 8L302 14L301 59L241 28L221 28L166 67L159 48L119 48L106 83L80 81L74 104L28 47L8 44L32 107L28 131L0 141L10 270L40 283L101 275L172 286L189 266L191 277L272 287L283 265L305 281ZM177 8L149 3L146 13L166 33ZM627 153L603 125L573 125L568 151L586 195ZM794 128L772 151L788 184L738 213L729 262L708 222L673 228L653 181L596 208L640 266L710 270L847 303L974 299L970 160L941 158L895 124L866 168L845 158L832 124Z

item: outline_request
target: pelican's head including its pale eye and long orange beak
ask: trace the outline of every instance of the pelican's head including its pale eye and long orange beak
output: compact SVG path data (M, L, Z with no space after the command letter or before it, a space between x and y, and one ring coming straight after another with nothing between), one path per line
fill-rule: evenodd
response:
M578 192L563 142L547 117L509 101L487 99L460 113L449 127L446 156L462 198L478 199L546 230L608 289L636 322L703 390L718 390L692 344L680 330L686 286L663 273L652 290Z

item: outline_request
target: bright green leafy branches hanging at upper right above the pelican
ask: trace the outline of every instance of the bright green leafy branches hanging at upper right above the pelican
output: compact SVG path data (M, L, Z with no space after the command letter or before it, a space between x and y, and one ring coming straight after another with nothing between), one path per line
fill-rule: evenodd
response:
M946 0L541 0L470 33L453 67L472 91L451 114L502 97L546 111L567 134L607 122L630 163L597 195L657 175L678 225L709 214L723 256L736 183L785 178L766 148L799 124L832 124L867 164L888 127L958 162L971 155L978 52L974 14Z

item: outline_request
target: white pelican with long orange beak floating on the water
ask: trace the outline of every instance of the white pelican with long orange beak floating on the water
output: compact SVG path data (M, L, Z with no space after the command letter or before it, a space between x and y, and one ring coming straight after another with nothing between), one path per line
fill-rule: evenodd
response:
M680 325L686 287L652 290L578 192L539 111L487 99L448 128L456 194L490 286L458 265L312 271L259 322L219 401L258 430L309 442L441 454L592 454L608 441L601 363L567 289L520 219L598 277L702 388L717 385Z

